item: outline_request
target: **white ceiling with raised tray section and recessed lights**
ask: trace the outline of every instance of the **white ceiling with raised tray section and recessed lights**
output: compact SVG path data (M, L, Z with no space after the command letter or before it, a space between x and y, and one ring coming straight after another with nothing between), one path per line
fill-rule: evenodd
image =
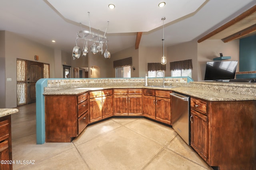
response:
M162 0L1 0L0 30L72 53L80 23L82 29L88 30L90 19L92 31L100 29L104 34L109 21L106 36L108 51L113 54L135 47L137 32L143 32L140 46L161 47L162 17L166 17L164 43L168 47L200 39L256 5L256 0L166 0L166 6L159 8L160 2ZM108 9L110 3L116 5L114 10ZM255 20L244 20L248 22ZM211 38L224 38L216 35ZM51 42L53 39L56 43ZM78 42L78 46L82 47L82 42Z

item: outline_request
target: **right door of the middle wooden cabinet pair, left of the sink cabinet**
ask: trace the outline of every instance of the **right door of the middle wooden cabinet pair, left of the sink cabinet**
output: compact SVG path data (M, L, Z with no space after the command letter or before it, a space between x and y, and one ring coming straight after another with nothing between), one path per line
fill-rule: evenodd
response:
M129 95L128 103L128 115L142 115L142 95Z

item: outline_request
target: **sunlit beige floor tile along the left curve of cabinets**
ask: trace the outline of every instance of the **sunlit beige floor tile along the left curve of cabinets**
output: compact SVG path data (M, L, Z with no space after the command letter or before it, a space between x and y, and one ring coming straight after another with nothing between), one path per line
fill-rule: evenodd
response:
M90 141L95 137L98 137L99 135L113 131L118 127L121 127L121 125L116 123L115 121L112 121L111 119L108 119L106 121L103 121L94 125L90 125L86 127L86 129L84 129L84 131L80 133L80 135L76 137L76 139L74 139L73 143L76 146L81 145L86 141Z

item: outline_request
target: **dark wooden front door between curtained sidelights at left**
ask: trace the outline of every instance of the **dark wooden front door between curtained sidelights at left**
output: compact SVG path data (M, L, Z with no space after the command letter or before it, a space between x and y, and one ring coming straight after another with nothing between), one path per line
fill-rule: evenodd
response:
M44 77L43 63L27 61L27 104L36 102L36 82Z

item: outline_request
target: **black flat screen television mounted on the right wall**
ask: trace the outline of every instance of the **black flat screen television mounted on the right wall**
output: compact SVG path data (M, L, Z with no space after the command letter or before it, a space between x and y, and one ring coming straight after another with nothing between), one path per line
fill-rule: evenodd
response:
M235 78L238 61L207 61L204 80L228 80Z

